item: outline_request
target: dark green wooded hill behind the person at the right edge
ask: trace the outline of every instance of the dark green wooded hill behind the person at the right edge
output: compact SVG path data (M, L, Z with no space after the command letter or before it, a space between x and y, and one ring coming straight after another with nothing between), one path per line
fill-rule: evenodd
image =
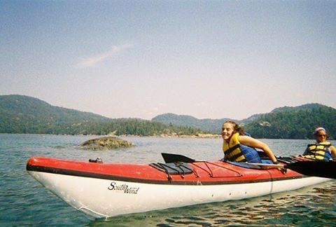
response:
M314 128L323 127L330 139L336 138L336 109L321 104L307 104L297 108L275 109L262 114L245 125L245 130L257 138L313 139Z

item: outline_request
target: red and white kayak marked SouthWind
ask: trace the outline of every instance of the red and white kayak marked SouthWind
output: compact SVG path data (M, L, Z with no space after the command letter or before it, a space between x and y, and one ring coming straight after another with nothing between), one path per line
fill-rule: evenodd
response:
M31 157L26 169L72 207L96 218L108 218L253 198L330 180L285 167L286 163L250 165L224 160L134 164L104 163L99 158Z

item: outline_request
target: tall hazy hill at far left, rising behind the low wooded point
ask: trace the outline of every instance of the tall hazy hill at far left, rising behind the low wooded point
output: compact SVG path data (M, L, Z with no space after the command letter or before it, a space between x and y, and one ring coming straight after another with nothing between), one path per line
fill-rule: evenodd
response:
M52 106L34 97L0 96L0 133L62 134L62 128L73 124L108 120L97 114Z

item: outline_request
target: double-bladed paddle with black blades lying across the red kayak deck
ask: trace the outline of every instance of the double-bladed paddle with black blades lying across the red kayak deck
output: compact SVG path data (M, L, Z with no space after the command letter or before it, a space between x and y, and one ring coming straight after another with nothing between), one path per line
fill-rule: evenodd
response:
M162 158L166 163L197 163L204 162L205 160L195 160L193 158L188 158L179 154L173 153L161 153ZM237 164L239 163L232 163ZM336 162L334 161L296 161L295 163L289 163L286 165L278 164L264 164L264 163L240 163L244 167L256 167L259 166L260 169L269 168L286 168L299 172L311 177L325 177L336 179Z

